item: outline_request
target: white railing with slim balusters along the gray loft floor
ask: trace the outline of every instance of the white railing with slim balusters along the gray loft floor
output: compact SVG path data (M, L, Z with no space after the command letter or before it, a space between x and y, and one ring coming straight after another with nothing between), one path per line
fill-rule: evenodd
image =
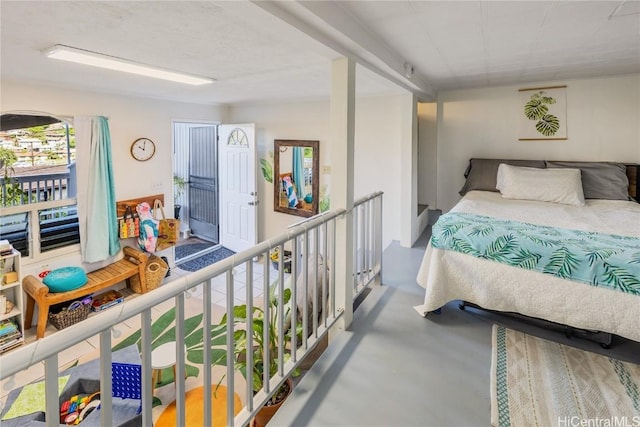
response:
M375 193L364 197L355 203L354 210L354 286L358 289L371 282L379 283L382 265L381 231L382 231L382 193ZM189 298L200 284L203 285L202 296L202 359L203 366L211 366L216 359L213 356L216 348L214 341L216 334L225 335L226 346L226 373L224 378L213 378L211 369L203 369L203 384L223 384L227 387L227 402L233 402L233 396L238 394L243 402L243 408L235 414L233 403L227 404L227 420L229 425L247 425L258 410L275 394L280 385L290 377L303 361L304 357L318 344L329 328L341 317L344 307L336 305L336 293L344 292L347 284L336 283L336 272L332 268L335 260L336 245L342 244L338 239L344 236L336 236L336 222L343 220L347 212L344 209L326 212L309 218L293 227L287 233L268 241L264 241L254 248L233 255L211 266L196 272L178 277L163 286L145 295L131 298L124 304L112 307L99 315L89 317L81 323L58 331L48 337L30 343L1 356L0 378L4 381L12 376L20 376L21 371L44 361L44 381L46 396L46 423L49 426L58 426L59 401L58 401L58 354L84 340L96 335L99 336L100 359L100 400L99 411L101 424L111 426L113 420L112 378L110 367L112 363L112 328L120 323L135 318L140 319L141 335L139 350L142 365L142 425L152 425L152 365L151 352L157 344L158 337L152 336L152 308L157 304L174 300L175 303L175 340L178 343L185 342L185 335L193 338L193 331L185 331L185 298ZM283 256L278 259L278 271L275 280L271 280L269 263L270 254L277 248L279 253L291 252L290 273L285 273L286 260ZM254 259L264 259L263 274L261 279L262 303L254 303L254 287L250 284L260 279L260 272L254 268ZM357 260L356 259L359 260ZM241 269L244 268L244 273ZM226 316L234 319L234 282L239 275L244 274L247 283L245 290L246 313L253 316L254 308L264 312L265 333L271 327L269 319L275 319L277 331L277 351L263 348L265 356L264 365L269 365L269 354L273 353L277 358L277 372L269 375L264 370L264 386L255 392L252 381L236 386L234 372L236 370L237 344L234 341L234 332L238 331L238 322L227 322L226 328L212 325L212 282L218 276L226 279L227 306ZM298 278L293 280L293 278ZM270 291L275 288L277 303L269 304ZM283 303L283 297L290 289L291 299L288 304ZM356 295L354 295L355 298ZM259 300L259 299L258 299ZM255 304L255 305L254 305ZM275 307L275 308L274 308ZM271 310L276 310L272 316ZM285 310L290 310L292 315L288 319ZM297 313L297 315L295 315ZM250 317L245 323L247 336L253 336L255 318ZM114 329L115 330L115 329ZM221 332L222 330L222 332ZM287 338L287 331L291 333ZM219 335L218 335L219 338ZM266 336L265 336L266 338ZM264 340L268 342L267 339ZM286 346L286 341L289 345ZM251 340L248 340L251 343ZM253 347L253 343L251 343ZM266 344L265 344L266 345ZM236 352L234 353L234 348ZM176 372L185 372L187 353L182 346L176 346ZM246 360L243 363L247 371L254 366L253 351L246 352ZM216 353L216 354L219 354ZM218 360L219 361L219 360ZM10 382L10 381L9 381ZM185 378L176 375L176 425L185 425ZM204 425L211 425L212 405L211 396L215 387L204 387Z

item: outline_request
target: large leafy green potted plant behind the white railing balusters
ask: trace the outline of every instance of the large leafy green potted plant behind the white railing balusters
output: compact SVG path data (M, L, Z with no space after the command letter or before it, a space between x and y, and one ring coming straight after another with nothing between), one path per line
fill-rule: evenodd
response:
M264 371L268 369L269 377L275 375L278 372L278 296L276 294L277 282L271 285L269 289L268 304L269 304L269 322L268 322L268 341L265 342L264 330L266 325L264 309L262 306L253 307L253 333L252 336L247 336L246 325L249 317L247 316L247 305L236 305L233 307L233 319L231 320L234 325L234 356L235 367L239 370L247 381L250 381L253 386L254 395L258 393L264 386L263 378ZM290 316L291 305L291 289L285 289L283 295L284 304L284 319L286 320ZM227 315L222 318L220 326L226 326L228 322ZM287 324L287 322L283 322ZM301 336L302 325L298 325L298 336ZM291 330L288 330L284 334L284 362L286 363L291 358ZM253 355L253 367L247 366L247 349L251 349ZM266 354L269 355L268 363L265 363ZM226 358L226 356L225 356ZM250 370L250 372L249 372ZM294 371L293 375L298 375L298 370ZM255 426L265 426L267 422L273 417L275 412L280 408L282 403L291 393L293 386L291 379L280 386L277 392L267 401L265 406L255 416Z

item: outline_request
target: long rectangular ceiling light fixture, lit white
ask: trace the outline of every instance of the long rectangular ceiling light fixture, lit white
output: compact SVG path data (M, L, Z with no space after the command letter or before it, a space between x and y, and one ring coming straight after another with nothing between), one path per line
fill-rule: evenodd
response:
M169 80L172 82L185 83L189 85L204 85L213 83L215 80L207 77L198 77L190 74L177 73L175 71L163 70L161 68L140 64L127 59L115 56L104 55L102 53L91 52L89 50L57 44L43 51L48 58L61 59L63 61L76 62L78 64L91 65L93 67L107 68L109 70L123 71L125 73L138 74L141 76L153 77L156 79Z

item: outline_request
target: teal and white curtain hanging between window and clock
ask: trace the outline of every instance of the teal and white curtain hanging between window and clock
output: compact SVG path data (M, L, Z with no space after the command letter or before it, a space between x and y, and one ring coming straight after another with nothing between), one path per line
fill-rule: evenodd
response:
M86 233L82 241L82 261L97 262L116 255L120 250L111 135L106 117L91 118L88 166Z

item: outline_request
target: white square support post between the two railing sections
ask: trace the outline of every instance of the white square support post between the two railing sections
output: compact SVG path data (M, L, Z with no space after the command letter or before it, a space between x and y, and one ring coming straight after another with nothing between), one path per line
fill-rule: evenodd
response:
M353 209L356 64L340 58L331 66L331 208ZM353 319L353 214L336 224L336 305L344 310L340 329Z

